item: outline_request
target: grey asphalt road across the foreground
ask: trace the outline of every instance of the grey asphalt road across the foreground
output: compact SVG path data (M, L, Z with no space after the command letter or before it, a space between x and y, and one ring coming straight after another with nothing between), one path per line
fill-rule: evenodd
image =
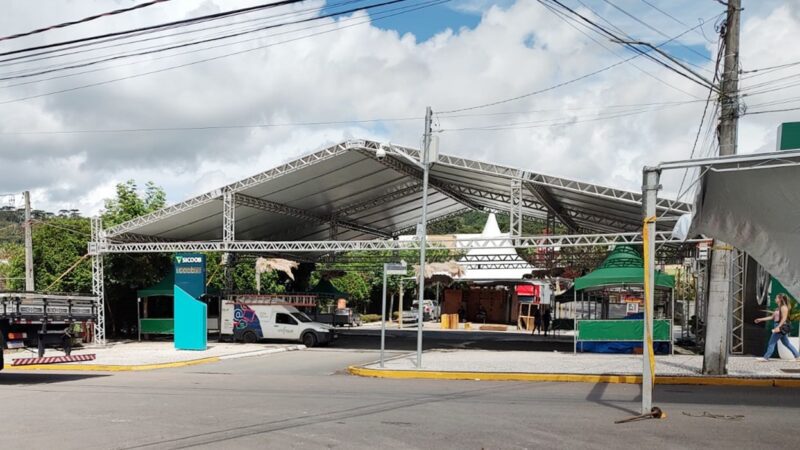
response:
M150 372L0 373L3 448L797 448L800 390L384 380L319 349Z

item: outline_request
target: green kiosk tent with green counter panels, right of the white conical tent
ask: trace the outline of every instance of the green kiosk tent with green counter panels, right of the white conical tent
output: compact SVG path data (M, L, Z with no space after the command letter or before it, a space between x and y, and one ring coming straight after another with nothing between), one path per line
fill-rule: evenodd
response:
M574 320L575 320L575 351L578 342L581 349L599 352L631 352L635 347L641 347L644 321L642 313L638 312L636 301L620 301L623 296L632 299L641 298L637 292L644 287L644 260L639 252L630 246L617 246L606 257L600 267L595 271L575 280L574 295ZM672 319L654 320L653 340L655 342L672 342L672 325L674 321L674 305L672 304L672 290L675 287L675 278L661 271L655 273L655 291L660 293L661 304L666 316L667 307ZM588 320L578 319L577 305L578 292L580 292L581 315L588 311ZM611 298L617 299L612 303ZM628 299L625 299L628 300ZM625 316L609 318L611 306L633 306L633 313L625 311ZM598 318L598 305L599 316ZM592 317L594 312L594 317ZM619 310L617 310L619 314ZM671 349L670 345L670 349Z

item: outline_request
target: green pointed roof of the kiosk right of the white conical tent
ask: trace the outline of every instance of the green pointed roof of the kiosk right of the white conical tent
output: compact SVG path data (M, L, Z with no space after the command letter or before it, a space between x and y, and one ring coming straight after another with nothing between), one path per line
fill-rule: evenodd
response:
M675 277L656 271L656 288L672 289ZM575 290L644 284L644 260L635 249L617 246L598 269L575 280Z

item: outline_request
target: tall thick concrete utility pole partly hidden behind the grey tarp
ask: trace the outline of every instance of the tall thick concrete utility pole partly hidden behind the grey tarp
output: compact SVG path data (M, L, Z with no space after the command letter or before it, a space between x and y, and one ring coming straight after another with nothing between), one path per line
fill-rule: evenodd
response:
M719 155L735 155L739 126L739 22L741 0L728 0L728 18L724 33L724 66L720 86L721 113L719 127ZM706 343L703 355L703 373L724 375L727 373L730 350L731 307L731 258L733 248L721 241L714 241L711 251L711 267L708 286L708 319Z

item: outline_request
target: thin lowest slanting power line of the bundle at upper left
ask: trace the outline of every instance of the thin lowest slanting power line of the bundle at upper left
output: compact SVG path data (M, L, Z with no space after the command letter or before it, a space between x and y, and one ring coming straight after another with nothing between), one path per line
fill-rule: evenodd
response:
M304 36L299 36L299 37L292 38L292 39L286 39L284 41L279 41L279 42L273 42L273 43L270 43L270 44L259 45L257 47L253 47L253 48L249 48L249 49L245 49L245 50L240 50L240 51L236 51L236 52L232 52L232 53L226 53L224 55L218 55L218 56L213 56L213 57L209 57L209 58L190 61L188 63L177 64L177 65L174 65L174 66L163 67L161 69L155 69L155 70L142 72L142 73L138 73L138 74L128 75L128 76L119 77L119 78L112 78L112 79L108 79L108 80L98 81L98 82L94 82L94 83L88 83L88 84L79 85L79 86L73 86L71 88L59 89L59 90L56 90L56 91L43 92L41 94L34 94L34 95L27 96L27 97L19 97L19 98L15 98L15 99L0 101L0 105L6 105L6 104L9 104L9 103L17 103L17 102L22 102L22 101L26 101L26 100L33 100L33 99L36 99L36 98L47 97L47 96L50 96L50 95L74 92L74 91L78 91L78 90L82 90L82 89L86 89L86 88L91 88L91 87L97 87L97 86L103 86L103 85L106 85L106 84L116 83L118 81L130 80L130 79L134 79L134 78L144 77L144 76L147 76L147 75L153 75L153 74L157 74L157 73L161 73L161 72L167 72L167 71L174 70L174 69L193 66L195 64L201 64L201 63L216 61L216 60L223 59L223 58L228 58L228 57L231 57L231 56L237 56L237 55L241 55L241 54L244 54L244 53L250 53L250 52L253 52L253 51L256 51L256 50L261 50L261 49L264 49L264 48L273 47L273 46L276 46L276 45L286 44L286 43L289 43L289 42L295 42L295 41L299 41L299 40L302 40L302 39L307 39L307 38L310 38L310 37L315 37L315 36L320 36L320 35L323 35L323 34L337 32L337 31L340 31L340 30L343 30L343 29L346 29L346 28L351 28L351 27L363 25L363 24L366 24L366 23L370 23L372 21L379 21L379 20L387 19L389 17L394 17L394 16L399 16L399 15L402 15L402 14L407 14L407 13L410 13L410 12L413 12L413 11L417 11L417 10L420 10L420 9L425 9L425 8L429 8L429 7L432 7L432 6L436 6L436 5L440 5L440 4L443 4L443 3L447 3L449 1L450 0L433 0L433 1L429 1L427 3L423 3L423 4L420 4L420 5L416 5L416 6L408 6L408 7L404 8L404 9L403 8L398 8L398 9L400 9L400 11L399 12L395 12L393 14L384 14L381 17L375 17L375 18L373 18L371 20L368 18L368 19L362 20L360 22L353 23L351 25L345 25L345 26L341 26L341 27L334 28L334 29L331 29L331 30L325 30L325 31L320 31L320 32L316 32L316 33L310 33L310 34L307 34L307 35L304 35Z

